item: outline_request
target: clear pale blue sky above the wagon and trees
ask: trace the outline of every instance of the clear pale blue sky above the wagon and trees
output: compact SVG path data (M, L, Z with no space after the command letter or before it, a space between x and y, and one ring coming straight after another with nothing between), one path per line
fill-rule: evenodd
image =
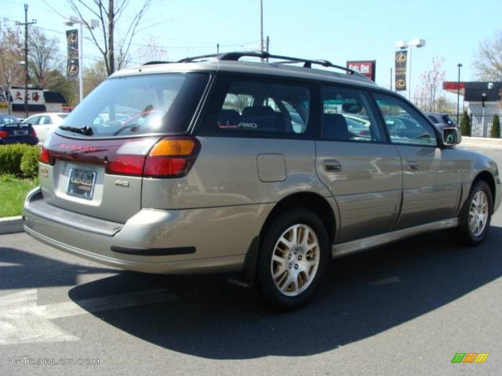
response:
M72 14L66 1L0 0L0 18L24 21L24 3L29 5L29 20L36 19L36 27L59 38L64 51L67 27L61 15ZM141 0L131 1L131 12L137 9L135 3ZM447 80L457 79L457 63L463 64L462 80L474 80L475 51L480 41L502 30L501 15L502 0L264 0L264 35L270 36L270 52L275 54L341 65L346 60L376 60L376 82L387 87L395 42L425 39L426 46L413 51L415 87L436 55L446 59ZM260 1L154 0L140 29L132 47L136 63L143 60L135 50L152 38L170 60L215 53L217 43L220 51L259 49ZM84 40L84 59L98 58L98 51Z

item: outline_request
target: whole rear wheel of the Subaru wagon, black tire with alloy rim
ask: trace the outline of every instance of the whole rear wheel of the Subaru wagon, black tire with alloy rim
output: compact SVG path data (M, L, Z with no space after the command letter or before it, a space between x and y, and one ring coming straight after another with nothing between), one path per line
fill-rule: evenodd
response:
M277 217L265 230L257 265L267 302L281 311L304 305L316 290L329 255L328 233L316 214L293 209Z

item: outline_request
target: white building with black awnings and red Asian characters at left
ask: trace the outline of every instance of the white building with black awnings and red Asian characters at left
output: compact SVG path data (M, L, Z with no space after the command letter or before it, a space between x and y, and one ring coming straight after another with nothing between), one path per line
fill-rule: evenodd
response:
M12 115L24 118L25 115L25 87L11 86L10 95L0 96L0 111L10 112ZM8 101L7 99L10 99ZM40 87L28 88L28 115L41 112L63 112L66 99L57 91L44 90Z

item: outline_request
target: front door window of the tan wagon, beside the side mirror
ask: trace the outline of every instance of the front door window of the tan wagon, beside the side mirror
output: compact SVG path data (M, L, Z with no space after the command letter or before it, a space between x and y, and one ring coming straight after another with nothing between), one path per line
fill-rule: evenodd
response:
M432 126L404 101L384 94L374 94L382 111L392 143L436 146Z

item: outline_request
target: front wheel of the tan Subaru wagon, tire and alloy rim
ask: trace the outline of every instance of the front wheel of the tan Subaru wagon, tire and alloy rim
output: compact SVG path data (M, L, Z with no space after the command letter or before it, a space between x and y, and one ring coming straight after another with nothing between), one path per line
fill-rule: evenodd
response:
M476 181L459 216L453 232L455 243L467 246L481 244L488 233L493 212L491 190L484 180Z

